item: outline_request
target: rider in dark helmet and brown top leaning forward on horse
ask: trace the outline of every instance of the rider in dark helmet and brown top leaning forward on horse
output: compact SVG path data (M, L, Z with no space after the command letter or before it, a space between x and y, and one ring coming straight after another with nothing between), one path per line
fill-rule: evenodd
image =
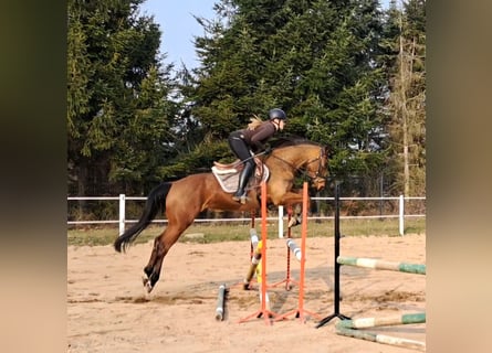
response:
M269 111L269 120L261 124L250 124L248 128L233 131L229 135L229 146L234 154L244 163L244 169L239 176L238 191L232 199L245 203L245 186L254 171L254 160L252 153L263 151L265 154L271 152L266 141L279 130L283 130L286 115L282 109L274 108Z

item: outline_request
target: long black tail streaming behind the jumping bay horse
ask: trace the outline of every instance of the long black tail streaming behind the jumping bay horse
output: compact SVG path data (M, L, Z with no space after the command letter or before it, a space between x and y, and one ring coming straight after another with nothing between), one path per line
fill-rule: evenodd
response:
M126 248L134 242L137 236L144 231L150 222L156 217L159 212L164 212L166 208L166 197L171 188L171 183L160 183L154 188L147 196L147 202L145 203L144 213L140 220L132 227L125 231L114 243L116 252L125 252Z

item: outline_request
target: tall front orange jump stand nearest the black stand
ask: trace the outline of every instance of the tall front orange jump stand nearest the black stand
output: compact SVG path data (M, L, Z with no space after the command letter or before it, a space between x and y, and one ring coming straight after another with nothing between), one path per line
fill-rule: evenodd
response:
M303 184L303 202L302 202L302 231L301 231L301 271L300 271L300 282L299 282L299 301L297 308L280 315L276 320L285 319L291 314L295 314L300 318L302 323L306 322L305 314L315 317L318 320L321 317L312 311L304 309L304 275L305 275L305 261L306 261L306 236L307 236L307 182Z

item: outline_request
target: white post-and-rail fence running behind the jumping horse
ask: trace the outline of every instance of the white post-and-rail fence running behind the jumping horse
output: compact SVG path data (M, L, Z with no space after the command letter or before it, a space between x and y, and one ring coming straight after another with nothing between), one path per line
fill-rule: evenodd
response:
M67 197L67 201L78 201L78 200L86 200L86 201L105 201L105 200L114 200L118 201L119 203L119 216L118 220L115 221L67 221L69 225L77 225L77 224L118 224L119 226L119 234L123 234L125 232L125 224L127 223L136 223L137 220L126 220L125 216L125 205L126 201L145 201L147 197L143 196L126 196L125 194L119 194L119 196L90 196L90 197L82 197L82 196L74 196L74 197ZM312 201L318 200L318 201L333 201L335 197L311 197ZM390 214L390 215L373 215L373 216L341 216L341 220L344 218L396 218L398 217L398 227L399 227L399 234L405 234L405 218L410 217L426 217L425 214L405 214L405 202L408 202L410 200L426 200L426 197L417 196L417 197L404 197L404 195L400 195L398 197L339 197L341 201L398 201L398 214ZM269 217L269 221L272 220L279 220L279 236L283 234L283 207L279 206L279 215L278 217ZM333 220L334 216L310 216L308 220ZM206 218L197 218L195 222L244 222L249 221L250 218L212 218L212 220L206 220ZM167 223L167 220L155 220L155 223Z

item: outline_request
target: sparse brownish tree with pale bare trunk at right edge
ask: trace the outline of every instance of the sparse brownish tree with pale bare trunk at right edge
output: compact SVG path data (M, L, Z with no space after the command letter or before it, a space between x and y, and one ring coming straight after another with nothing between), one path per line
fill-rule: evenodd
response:
M426 1L409 0L388 11L390 162L392 189L426 194ZM395 31L395 29L398 31Z

